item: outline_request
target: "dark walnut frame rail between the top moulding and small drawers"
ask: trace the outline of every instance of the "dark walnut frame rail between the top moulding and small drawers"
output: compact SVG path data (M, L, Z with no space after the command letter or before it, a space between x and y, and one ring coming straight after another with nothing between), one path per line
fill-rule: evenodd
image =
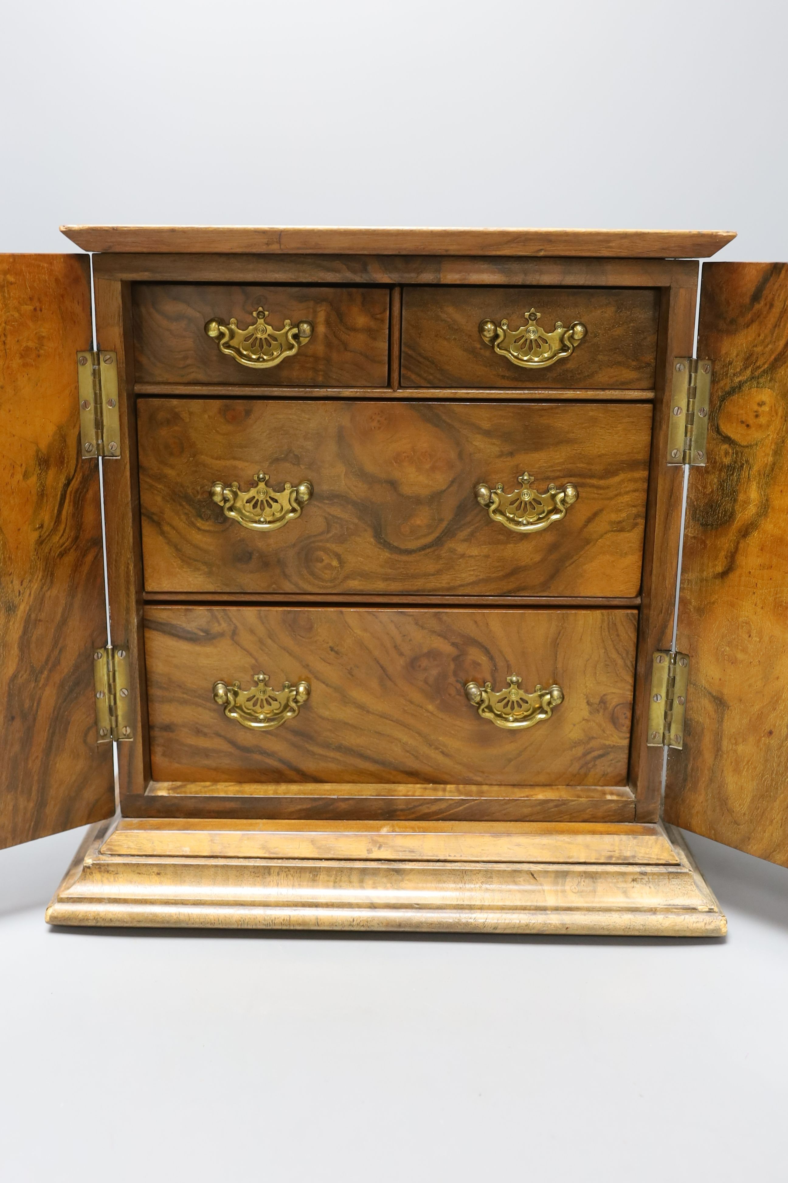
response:
M97 254L104 279L229 284L522 284L669 287L697 264L680 259L578 259L438 254Z

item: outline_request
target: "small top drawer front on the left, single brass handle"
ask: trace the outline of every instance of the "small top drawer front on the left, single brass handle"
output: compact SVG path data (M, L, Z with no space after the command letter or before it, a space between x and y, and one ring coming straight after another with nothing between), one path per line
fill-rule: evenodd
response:
M137 382L365 387L389 381L385 287L135 284L132 293ZM265 325L258 309L267 312ZM229 331L232 318L240 330L260 323L260 332L240 345L219 329L206 332L211 322ZM281 332L285 321L308 322L308 340L298 332L295 341L266 336L266 325Z

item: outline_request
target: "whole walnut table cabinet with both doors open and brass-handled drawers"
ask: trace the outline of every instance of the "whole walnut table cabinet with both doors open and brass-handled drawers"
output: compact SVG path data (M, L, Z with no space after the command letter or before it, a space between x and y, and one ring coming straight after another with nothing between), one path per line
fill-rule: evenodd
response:
M788 865L788 267L64 232L0 267L0 845L95 823L50 923L723 933L672 826Z

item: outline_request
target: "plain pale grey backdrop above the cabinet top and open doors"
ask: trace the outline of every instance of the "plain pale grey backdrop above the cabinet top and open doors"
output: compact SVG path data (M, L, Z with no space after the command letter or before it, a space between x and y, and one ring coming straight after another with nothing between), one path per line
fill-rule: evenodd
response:
M0 4L4 251L61 222L737 230L787 259L780 0Z

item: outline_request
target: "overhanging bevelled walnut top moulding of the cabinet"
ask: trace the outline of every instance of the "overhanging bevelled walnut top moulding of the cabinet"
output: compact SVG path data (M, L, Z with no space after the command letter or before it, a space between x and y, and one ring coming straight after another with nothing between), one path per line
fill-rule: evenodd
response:
M735 231L410 226L61 226L85 251L184 254L477 254L708 259Z

